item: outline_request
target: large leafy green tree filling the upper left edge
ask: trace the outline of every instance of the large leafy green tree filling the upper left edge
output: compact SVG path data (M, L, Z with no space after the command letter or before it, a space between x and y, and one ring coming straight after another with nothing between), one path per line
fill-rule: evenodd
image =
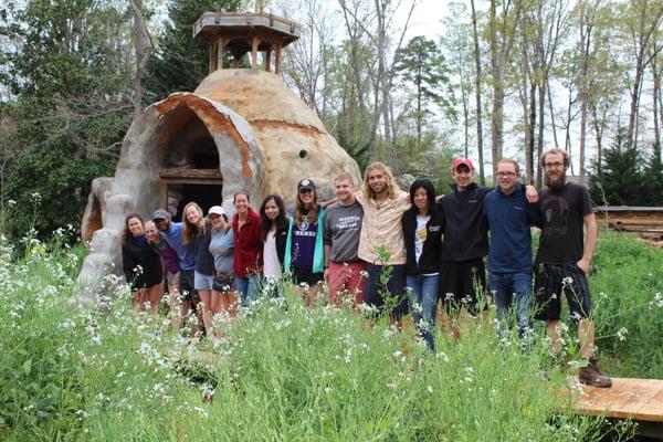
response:
M113 3L31 0L9 6L3 36L7 80L15 99L0 116L15 122L0 149L2 230L15 238L34 227L77 225L93 178L112 173L130 115L127 19Z

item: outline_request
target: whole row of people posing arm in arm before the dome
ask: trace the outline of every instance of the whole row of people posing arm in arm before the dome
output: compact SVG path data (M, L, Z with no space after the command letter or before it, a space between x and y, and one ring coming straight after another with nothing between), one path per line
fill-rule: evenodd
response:
M439 302L446 328L457 338L461 309L478 315L484 295L491 294L499 333L515 319L526 343L533 319L545 320L559 354L566 295L587 359L579 380L610 387L597 366L590 319L592 202L586 188L567 182L566 151L546 151L541 166L546 188L540 191L519 182L513 159L498 162L493 189L474 182L470 159L454 160L454 185L442 197L428 179L417 179L404 192L383 164L372 162L360 189L350 175L336 177L336 198L329 202L320 201L313 180L299 181L292 217L278 194L266 196L255 212L248 192L234 194L231 220L219 206L206 218L196 202L185 207L182 222L162 209L147 222L133 213L123 235L125 275L135 307L148 302L154 309L165 273L171 303L182 299L183 316L198 308L208 335L214 333L214 315L234 316L235 294L243 306L260 293L278 296L277 283L291 275L295 290L314 304L326 283L332 305L344 299L366 305L397 326L410 311L418 335L433 351ZM541 229L535 261L532 227Z

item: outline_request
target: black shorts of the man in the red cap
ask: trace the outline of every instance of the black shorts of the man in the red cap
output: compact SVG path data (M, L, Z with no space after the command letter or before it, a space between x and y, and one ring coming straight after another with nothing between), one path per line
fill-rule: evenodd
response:
M478 294L486 292L483 259L442 261L439 290L446 314L457 314L463 305L471 314L478 314Z

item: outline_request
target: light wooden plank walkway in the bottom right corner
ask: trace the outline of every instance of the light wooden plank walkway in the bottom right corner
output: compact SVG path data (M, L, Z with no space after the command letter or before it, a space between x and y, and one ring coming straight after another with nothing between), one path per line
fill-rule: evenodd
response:
M663 422L663 380L612 378L612 388L581 388L573 403L581 414Z

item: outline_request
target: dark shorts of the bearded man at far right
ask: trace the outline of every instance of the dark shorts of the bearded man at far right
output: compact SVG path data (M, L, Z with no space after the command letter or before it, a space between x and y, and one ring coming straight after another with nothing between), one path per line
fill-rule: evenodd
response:
M591 295L587 275L576 262L537 263L535 278L536 312L539 320L559 320L561 296L569 303L571 320L579 323L591 314Z

